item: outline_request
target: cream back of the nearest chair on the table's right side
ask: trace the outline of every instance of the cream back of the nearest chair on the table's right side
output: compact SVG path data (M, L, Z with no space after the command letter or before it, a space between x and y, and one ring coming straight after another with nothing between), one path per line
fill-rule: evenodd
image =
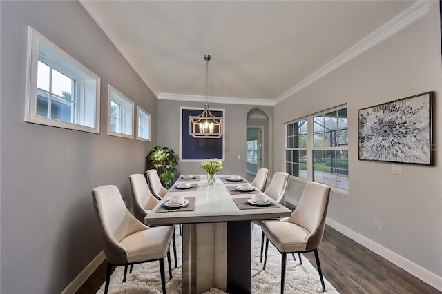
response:
M298 224L310 232L306 250L318 248L323 239L330 190L331 187L325 184L307 182L298 206L291 213L289 222Z

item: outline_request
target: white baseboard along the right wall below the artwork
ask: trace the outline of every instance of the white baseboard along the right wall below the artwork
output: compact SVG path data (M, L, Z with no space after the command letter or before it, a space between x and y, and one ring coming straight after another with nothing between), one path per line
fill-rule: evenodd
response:
M290 200L289 204L292 204L294 206L298 205L297 200L294 199L288 199L288 200ZM342 224L334 221L333 219L330 219L329 217L327 217L325 224L331 226L336 231L343 233L344 235L352 239L354 242L361 244L362 246L369 249L370 251L373 251L377 255L382 256L383 258L387 259L389 262L396 264L396 266L414 275L414 277L417 277L419 280L422 280L423 282L429 284L430 286L436 288L437 290L442 291L442 277L439 277L438 275L432 273L431 271L428 271L422 266L419 266L419 264L411 262L409 259L406 259L405 257L398 255L397 253L394 253L390 249L385 248L384 246L372 241L372 239L369 239L353 231L352 229L343 226Z

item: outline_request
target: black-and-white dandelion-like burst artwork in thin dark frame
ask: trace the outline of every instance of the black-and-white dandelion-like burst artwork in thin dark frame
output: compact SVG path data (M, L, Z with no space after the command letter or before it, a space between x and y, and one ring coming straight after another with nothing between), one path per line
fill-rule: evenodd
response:
M434 92L359 110L359 159L434 165Z

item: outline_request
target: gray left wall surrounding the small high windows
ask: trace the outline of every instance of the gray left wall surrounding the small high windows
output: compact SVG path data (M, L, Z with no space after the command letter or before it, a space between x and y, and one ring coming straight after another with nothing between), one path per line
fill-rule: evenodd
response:
M59 293L101 251L90 191L143 173L157 99L77 1L0 1L1 293ZM102 78L101 133L23 121L27 26ZM107 84L151 112L152 142L106 135Z

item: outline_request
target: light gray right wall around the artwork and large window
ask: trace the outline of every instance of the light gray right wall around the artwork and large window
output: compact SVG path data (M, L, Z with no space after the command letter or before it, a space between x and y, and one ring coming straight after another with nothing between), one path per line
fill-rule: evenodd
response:
M392 164L358 160L358 109L421 92L436 91L435 137L442 138L439 1L428 3L425 17L275 106L275 168L283 167L285 122L347 103L349 193L332 193L327 216L440 279L440 154L436 166L401 164L402 175L392 174ZM293 200L303 184L290 182ZM381 231L373 228L373 218L381 220Z

